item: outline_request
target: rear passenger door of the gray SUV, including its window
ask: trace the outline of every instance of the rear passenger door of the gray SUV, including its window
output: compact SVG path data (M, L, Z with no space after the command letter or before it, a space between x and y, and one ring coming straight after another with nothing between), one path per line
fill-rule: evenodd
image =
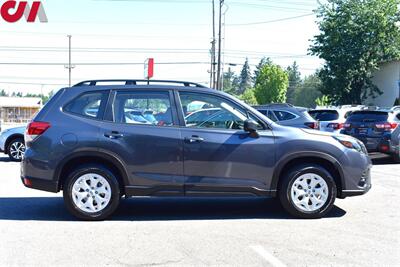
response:
M133 195L183 195L183 144L172 92L116 91L100 149L118 156Z

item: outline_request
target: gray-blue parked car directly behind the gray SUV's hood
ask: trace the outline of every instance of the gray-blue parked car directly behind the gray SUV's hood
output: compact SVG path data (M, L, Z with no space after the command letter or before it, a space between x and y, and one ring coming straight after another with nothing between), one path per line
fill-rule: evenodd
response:
M273 122L283 126L319 129L319 123L308 114L306 108L294 107L290 104L269 104L254 106L254 108Z

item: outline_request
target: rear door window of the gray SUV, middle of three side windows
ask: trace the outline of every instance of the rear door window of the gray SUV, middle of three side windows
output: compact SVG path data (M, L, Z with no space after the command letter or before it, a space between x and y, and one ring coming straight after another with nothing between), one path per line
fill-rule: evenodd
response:
M118 123L156 126L173 125L168 92L119 92L113 105Z

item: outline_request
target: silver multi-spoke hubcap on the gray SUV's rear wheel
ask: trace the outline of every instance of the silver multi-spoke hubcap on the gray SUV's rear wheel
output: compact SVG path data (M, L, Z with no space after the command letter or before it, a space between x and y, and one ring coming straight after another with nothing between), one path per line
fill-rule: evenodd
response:
M111 186L99 174L85 174L79 177L72 186L72 200L84 212L102 211L110 203Z

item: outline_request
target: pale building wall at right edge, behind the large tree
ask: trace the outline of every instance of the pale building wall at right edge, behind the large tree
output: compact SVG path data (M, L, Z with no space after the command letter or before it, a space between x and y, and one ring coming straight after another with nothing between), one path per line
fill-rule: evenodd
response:
M374 73L372 82L383 92L377 98L369 98L366 105L392 107L396 99L400 98L400 60L385 62Z

